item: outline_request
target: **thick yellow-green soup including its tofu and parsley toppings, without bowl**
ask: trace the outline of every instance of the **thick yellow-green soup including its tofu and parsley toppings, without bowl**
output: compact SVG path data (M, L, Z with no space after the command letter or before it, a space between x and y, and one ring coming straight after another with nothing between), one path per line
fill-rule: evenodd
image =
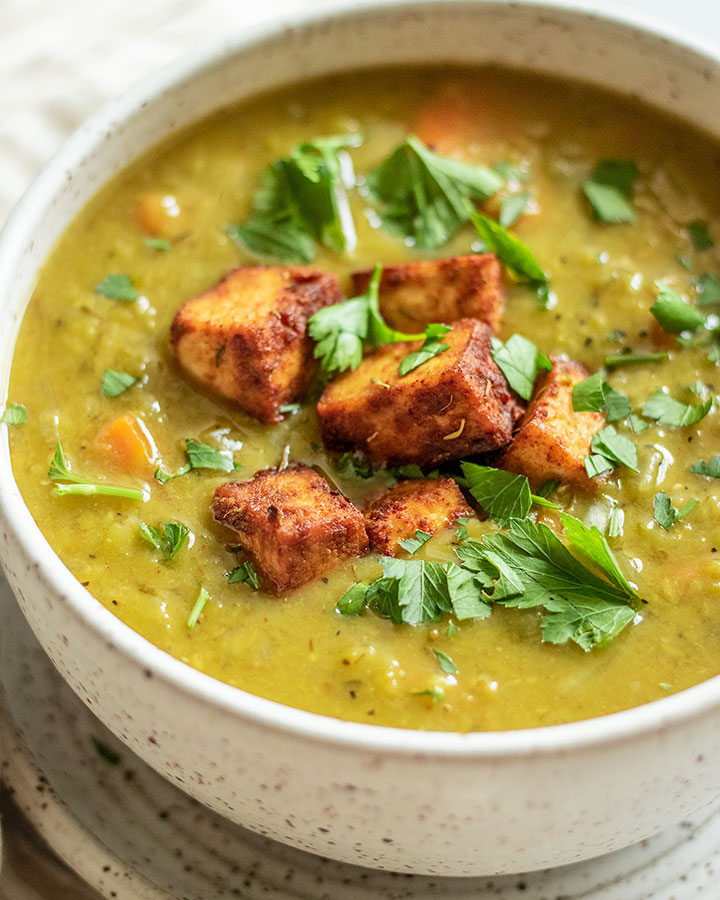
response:
M23 496L130 627L302 709L512 729L709 678L719 166L648 109L506 71L353 73L225 111L113 181L47 261L4 415ZM322 271L292 275L292 315L274 271L215 287L303 262ZM487 309L448 313L476 270ZM266 301L305 348L274 394Z

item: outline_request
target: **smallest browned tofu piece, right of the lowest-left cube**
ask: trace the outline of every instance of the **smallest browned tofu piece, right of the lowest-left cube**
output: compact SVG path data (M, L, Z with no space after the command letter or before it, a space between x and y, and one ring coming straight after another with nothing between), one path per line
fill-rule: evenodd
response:
M471 516L452 478L420 478L400 481L375 500L365 512L365 526L373 549L395 556L400 541L416 531L435 534L453 525L460 516Z

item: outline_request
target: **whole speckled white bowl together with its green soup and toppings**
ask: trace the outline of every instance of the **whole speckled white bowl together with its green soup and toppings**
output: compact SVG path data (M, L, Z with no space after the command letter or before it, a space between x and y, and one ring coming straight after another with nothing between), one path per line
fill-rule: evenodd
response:
M0 552L173 783L348 862L626 846L720 788L720 66L338 3L77 132L0 244Z

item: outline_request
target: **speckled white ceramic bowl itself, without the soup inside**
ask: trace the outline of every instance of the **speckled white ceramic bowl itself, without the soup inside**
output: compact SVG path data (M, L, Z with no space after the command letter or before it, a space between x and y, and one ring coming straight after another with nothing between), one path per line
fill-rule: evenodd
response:
M38 268L115 172L230 102L398 62L498 62L633 93L720 138L720 64L660 29L518 3L354 3L298 12L166 70L92 119L0 242L0 398ZM567 6L567 4L565 4ZM506 733L373 727L290 709L196 672L96 602L40 534L0 434L0 555L63 676L148 763L220 813L362 865L517 872L647 837L720 791L720 679L628 712Z

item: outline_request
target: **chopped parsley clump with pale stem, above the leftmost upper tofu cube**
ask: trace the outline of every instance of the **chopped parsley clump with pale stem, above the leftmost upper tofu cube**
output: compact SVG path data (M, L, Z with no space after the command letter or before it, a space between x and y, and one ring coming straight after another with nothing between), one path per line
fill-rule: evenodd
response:
M356 243L346 190L355 182L350 157L355 135L322 137L298 144L263 173L253 212L227 233L251 253L307 263L315 247L342 253Z

